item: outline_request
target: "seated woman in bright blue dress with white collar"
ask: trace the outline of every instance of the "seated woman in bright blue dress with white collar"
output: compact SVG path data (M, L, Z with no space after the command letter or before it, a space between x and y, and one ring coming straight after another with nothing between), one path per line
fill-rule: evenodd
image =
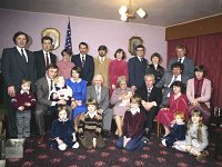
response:
M67 80L67 85L72 89L73 98L72 106L75 108L72 110L72 119L74 119L74 126L77 128L79 115L87 111L87 81L80 78L81 69L73 67L71 70L72 77Z

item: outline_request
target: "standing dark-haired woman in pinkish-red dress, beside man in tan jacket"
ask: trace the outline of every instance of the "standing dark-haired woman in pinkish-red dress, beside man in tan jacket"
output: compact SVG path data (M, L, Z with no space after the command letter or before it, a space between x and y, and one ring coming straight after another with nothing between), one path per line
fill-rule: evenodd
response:
M118 77L125 76L128 78L128 62L125 59L125 52L122 49L118 49L114 53L114 60L112 60L109 65L109 87L110 87L110 96L113 90L118 88Z

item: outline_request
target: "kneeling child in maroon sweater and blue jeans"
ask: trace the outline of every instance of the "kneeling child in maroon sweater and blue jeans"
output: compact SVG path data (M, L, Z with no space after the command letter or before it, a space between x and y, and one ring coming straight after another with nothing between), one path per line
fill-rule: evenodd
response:
M122 137L117 141L117 147L120 149L132 151L144 147L148 143L142 136L145 116L140 111L140 102L139 97L132 97L130 100L130 109L124 114Z

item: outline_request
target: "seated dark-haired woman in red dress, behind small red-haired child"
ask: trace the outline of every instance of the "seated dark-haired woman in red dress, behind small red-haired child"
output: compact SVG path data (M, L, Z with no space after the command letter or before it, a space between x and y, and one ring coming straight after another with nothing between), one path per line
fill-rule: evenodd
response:
M169 108L161 108L158 112L158 121L163 125L165 129L164 136L170 134L170 122L173 120L175 111L182 111L186 116L188 110L188 98L184 94L184 84L181 81L174 81L172 84L173 92L170 94Z

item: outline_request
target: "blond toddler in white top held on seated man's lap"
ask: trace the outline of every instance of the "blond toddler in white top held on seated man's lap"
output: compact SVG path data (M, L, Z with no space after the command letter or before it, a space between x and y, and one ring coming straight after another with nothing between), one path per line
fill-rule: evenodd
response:
M58 76L54 78L54 88L50 92L50 99L52 101L58 101L64 99L67 105L71 105L72 89L65 85L63 76Z

